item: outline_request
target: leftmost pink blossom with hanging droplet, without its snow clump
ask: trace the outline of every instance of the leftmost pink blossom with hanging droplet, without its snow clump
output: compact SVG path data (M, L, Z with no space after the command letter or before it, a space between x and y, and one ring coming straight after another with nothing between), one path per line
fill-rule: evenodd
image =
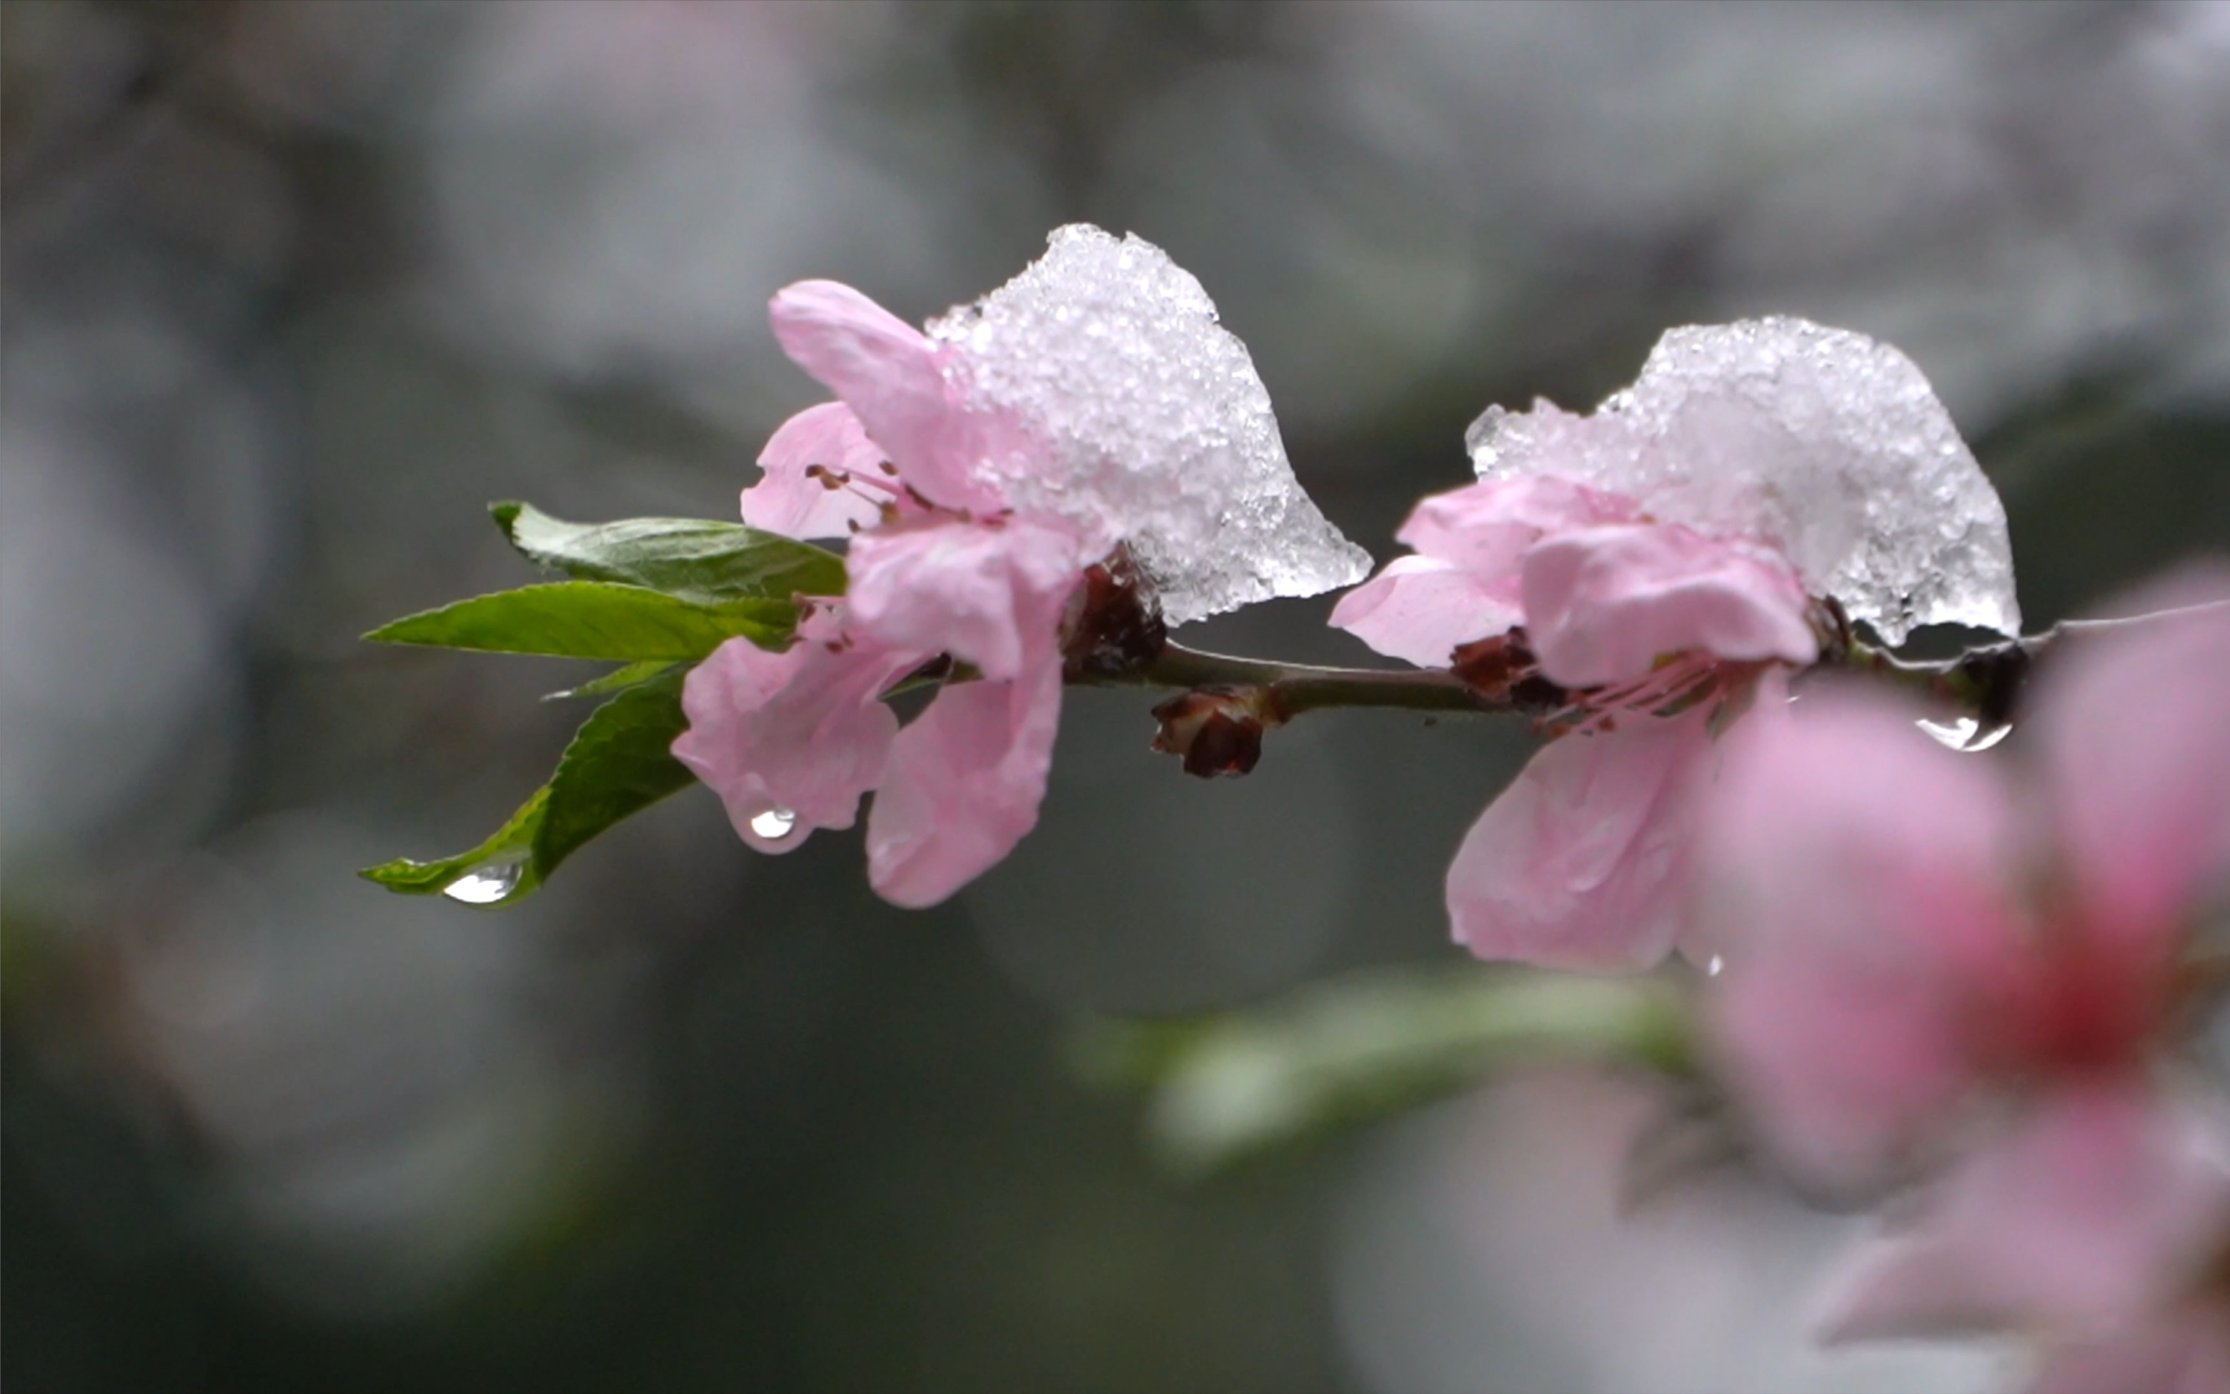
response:
M1037 823L1061 711L1061 609L1104 540L1008 511L968 462L1001 424L950 395L925 335L850 285L774 297L774 332L841 401L774 433L743 517L794 538L852 538L847 593L798 642L729 640L682 689L673 754L720 794L736 832L785 852L850 827L861 794L867 879L934 906ZM981 674L903 729L883 694L950 654Z

